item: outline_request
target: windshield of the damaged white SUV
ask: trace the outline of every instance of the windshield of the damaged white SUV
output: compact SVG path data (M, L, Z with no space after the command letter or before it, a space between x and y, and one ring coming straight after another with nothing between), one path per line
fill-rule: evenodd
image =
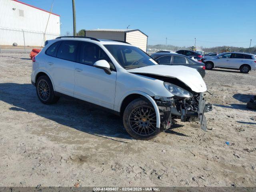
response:
M125 69L140 68L157 64L150 56L137 47L127 45L104 46Z

